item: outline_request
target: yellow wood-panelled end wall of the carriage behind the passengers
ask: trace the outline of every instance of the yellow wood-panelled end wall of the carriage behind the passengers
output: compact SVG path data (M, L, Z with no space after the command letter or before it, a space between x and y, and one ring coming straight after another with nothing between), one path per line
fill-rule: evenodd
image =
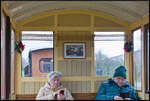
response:
M143 18L140 25L144 25L148 20ZM139 22L139 21L138 21ZM63 73L62 83L73 93L96 93L101 82L110 77L95 77L94 75L94 31L124 31L126 40L130 39L131 30L139 23L131 25L105 14L82 10L63 10L41 14L18 24L18 34L21 30L49 30L54 32L55 54L54 68ZM85 59L64 59L64 42L84 42L86 43ZM20 60L21 55L17 58ZM17 62L18 63L18 62ZM19 62L21 63L21 61ZM21 74L21 64L18 64L17 75ZM125 66L127 67L127 80L132 83L132 53L125 54ZM144 74L143 74L144 75ZM47 78L32 77L22 78L17 76L16 94L35 94L44 85ZM144 82L144 81L143 81ZM29 87L29 85L32 85ZM147 95L139 92L142 99Z

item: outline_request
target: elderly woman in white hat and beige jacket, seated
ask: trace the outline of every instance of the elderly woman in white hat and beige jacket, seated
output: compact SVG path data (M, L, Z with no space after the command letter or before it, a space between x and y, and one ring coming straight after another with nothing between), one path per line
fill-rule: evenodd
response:
M60 72L54 71L48 74L48 82L41 87L36 100L73 100L70 92L60 83Z

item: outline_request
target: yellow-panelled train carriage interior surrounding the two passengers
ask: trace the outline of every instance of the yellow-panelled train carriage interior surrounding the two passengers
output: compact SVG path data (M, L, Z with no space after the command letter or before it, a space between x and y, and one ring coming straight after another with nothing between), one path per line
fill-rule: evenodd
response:
M35 100L51 71L96 100L120 65L149 100L149 0L1 1L1 100Z

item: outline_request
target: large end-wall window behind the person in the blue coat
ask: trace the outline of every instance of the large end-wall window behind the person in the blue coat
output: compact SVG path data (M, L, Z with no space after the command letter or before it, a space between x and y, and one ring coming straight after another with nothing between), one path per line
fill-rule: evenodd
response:
M124 65L124 32L94 32L95 76L112 76Z

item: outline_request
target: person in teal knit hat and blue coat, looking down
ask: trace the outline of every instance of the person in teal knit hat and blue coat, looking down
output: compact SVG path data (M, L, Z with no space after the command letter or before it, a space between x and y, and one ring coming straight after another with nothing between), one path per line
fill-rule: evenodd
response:
M126 78L126 68L117 67L113 78L103 82L99 87L96 100L138 100L135 89Z

